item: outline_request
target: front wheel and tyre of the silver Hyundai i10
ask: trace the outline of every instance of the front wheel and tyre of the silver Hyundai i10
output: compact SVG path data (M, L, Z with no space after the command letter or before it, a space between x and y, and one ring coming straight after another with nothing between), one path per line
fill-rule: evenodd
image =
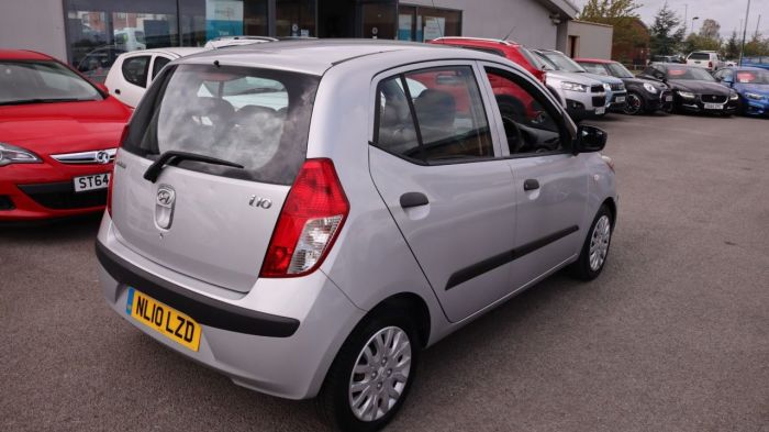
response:
M609 207L603 204L590 225L579 258L570 267L572 276L581 280L593 280L601 274L609 258L613 232L614 218Z

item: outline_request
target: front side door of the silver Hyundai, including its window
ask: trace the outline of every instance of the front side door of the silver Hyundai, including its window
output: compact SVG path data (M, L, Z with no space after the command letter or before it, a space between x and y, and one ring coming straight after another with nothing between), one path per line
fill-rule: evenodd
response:
M523 288L572 259L582 239L588 170L564 114L531 77L484 64L515 192L511 281Z

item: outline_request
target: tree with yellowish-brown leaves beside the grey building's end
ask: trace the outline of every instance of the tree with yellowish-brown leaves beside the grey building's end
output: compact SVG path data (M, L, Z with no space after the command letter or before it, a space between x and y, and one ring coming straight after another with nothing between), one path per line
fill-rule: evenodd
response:
M634 0L589 0L579 19L583 21L609 24L614 27L612 36L613 57L618 52L632 52L633 48L646 48L647 41L644 32L638 29L639 20L636 10L640 4ZM626 55L625 55L626 56ZM632 58L615 58L629 63Z

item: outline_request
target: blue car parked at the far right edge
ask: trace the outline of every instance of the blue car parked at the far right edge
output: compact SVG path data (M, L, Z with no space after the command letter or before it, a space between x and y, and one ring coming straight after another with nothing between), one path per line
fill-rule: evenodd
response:
M735 66L718 69L713 76L739 93L743 114L769 115L769 70Z

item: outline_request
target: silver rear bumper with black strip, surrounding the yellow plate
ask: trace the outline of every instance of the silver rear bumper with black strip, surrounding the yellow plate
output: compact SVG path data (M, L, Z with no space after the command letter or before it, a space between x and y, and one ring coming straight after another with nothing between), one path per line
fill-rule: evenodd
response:
M105 214L97 255L108 304L157 342L243 387L288 399L314 397L342 343L365 314L320 270L301 278L259 279L246 295L204 292L189 279L148 264L112 232ZM196 320L202 329L199 350L130 317L129 287Z

